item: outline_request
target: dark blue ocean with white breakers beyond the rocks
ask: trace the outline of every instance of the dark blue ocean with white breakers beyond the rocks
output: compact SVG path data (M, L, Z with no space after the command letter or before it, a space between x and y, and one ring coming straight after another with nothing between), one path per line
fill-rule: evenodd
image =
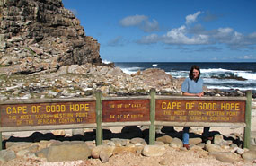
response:
M253 63L212 63L212 62L115 62L125 73L133 74L146 68L160 68L174 78L188 77L190 67L197 65L208 89L222 91L251 90L256 92L256 62Z

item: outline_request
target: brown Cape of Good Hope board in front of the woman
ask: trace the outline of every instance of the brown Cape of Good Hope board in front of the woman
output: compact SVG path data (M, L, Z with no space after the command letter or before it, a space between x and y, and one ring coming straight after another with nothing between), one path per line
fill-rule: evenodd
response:
M156 100L155 120L173 122L244 122L245 101Z

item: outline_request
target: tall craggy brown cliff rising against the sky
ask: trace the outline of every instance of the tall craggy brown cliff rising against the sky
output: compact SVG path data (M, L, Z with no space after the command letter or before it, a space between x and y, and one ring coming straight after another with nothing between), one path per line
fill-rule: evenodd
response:
M61 0L0 0L0 21L0 65L9 73L102 65L100 44L85 36L79 20Z

